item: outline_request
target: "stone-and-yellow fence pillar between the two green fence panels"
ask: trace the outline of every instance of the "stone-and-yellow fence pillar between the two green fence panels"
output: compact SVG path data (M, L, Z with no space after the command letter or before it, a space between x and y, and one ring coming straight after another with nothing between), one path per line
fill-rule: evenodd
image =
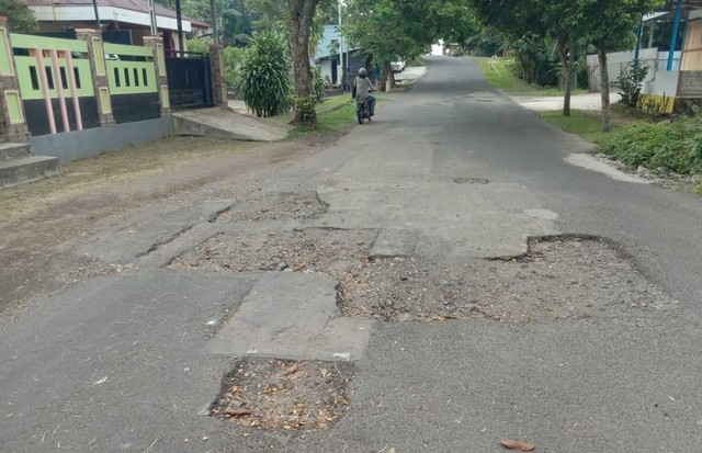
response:
M88 43L88 58L90 59L92 84L95 90L100 126L114 127L116 123L112 114L112 99L110 98L110 82L107 81L107 66L105 65L102 35L99 31L92 29L76 30L76 35L78 39Z

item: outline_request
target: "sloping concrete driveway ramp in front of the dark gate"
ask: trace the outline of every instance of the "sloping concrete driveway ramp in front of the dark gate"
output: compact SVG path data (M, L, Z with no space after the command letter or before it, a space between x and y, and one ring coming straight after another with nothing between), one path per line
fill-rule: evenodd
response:
M287 137L293 126L242 115L228 107L200 109L173 114L177 135L193 135L246 141L275 141Z

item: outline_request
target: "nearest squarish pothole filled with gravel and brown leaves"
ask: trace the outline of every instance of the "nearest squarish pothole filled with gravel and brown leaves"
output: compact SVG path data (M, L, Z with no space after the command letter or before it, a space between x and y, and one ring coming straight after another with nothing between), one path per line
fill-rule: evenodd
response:
M211 415L265 430L321 430L349 408L350 363L244 359L222 381Z

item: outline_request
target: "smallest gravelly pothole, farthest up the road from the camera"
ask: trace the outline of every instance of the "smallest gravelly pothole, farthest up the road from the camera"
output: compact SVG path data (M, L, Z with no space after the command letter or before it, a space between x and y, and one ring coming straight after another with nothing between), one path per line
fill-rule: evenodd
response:
M315 218L327 212L329 205L315 192L264 193L257 192L217 218L219 223L291 220Z

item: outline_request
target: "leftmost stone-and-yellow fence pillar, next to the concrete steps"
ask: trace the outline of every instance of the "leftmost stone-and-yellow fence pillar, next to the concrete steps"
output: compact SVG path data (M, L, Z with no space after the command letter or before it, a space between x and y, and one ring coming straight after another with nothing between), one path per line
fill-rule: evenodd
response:
M27 143L26 127L14 57L10 44L8 18L0 15L0 143Z

